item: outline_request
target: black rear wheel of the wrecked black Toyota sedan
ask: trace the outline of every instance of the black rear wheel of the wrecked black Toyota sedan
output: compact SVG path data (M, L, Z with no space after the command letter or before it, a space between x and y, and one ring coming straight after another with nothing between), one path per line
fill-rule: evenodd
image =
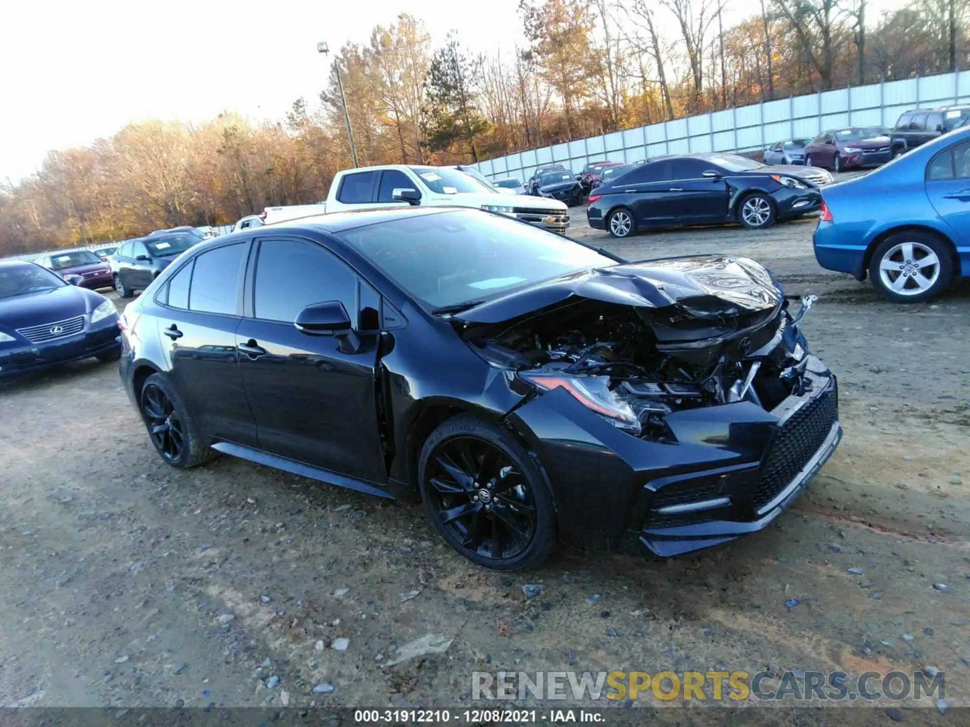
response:
M139 405L148 438L166 464L188 469L212 458L212 451L202 444L199 427L162 374L153 373L146 378Z

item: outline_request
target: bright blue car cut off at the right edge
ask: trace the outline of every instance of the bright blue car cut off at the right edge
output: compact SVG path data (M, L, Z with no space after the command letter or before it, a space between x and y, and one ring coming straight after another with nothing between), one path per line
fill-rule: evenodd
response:
M935 298L970 275L970 128L826 186L823 199L814 237L823 268L868 274L894 302Z

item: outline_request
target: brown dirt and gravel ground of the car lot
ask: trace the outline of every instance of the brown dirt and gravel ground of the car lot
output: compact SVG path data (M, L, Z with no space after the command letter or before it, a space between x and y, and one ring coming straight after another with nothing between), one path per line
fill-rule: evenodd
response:
M891 305L817 266L814 220L618 243L573 215L629 259L744 254L820 297L804 327L845 437L772 527L665 562L566 550L485 571L420 506L228 457L172 469L114 364L65 365L0 383L0 703L455 707L472 671L932 666L970 705L966 281ZM453 641L386 666L427 634ZM872 723L958 722L901 707Z

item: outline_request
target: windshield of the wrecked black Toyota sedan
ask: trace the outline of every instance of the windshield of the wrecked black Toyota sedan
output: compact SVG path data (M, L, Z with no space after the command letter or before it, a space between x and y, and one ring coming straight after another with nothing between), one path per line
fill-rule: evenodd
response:
M566 237L475 210L402 217L335 235L432 310L616 265Z

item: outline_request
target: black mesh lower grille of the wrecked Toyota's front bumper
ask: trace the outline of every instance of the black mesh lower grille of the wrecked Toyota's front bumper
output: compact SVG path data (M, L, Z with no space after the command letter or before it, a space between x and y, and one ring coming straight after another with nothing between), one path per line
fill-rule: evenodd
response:
M833 388L809 400L779 427L761 467L754 499L756 509L791 484L809 459L822 448L838 416Z

